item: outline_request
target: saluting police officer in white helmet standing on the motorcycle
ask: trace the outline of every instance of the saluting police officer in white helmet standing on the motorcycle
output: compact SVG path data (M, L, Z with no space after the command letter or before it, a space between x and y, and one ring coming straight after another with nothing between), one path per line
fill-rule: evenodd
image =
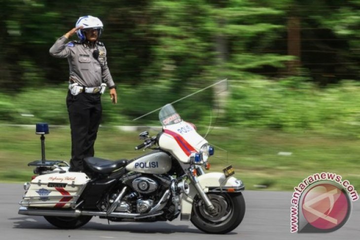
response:
M83 159L94 156L94 143L102 115L101 94L107 86L112 103L116 87L108 69L106 49L98 39L103 23L93 16L80 17L75 28L56 40L50 54L67 58L70 67L66 99L72 137L70 171L83 171ZM69 41L73 34L79 41Z

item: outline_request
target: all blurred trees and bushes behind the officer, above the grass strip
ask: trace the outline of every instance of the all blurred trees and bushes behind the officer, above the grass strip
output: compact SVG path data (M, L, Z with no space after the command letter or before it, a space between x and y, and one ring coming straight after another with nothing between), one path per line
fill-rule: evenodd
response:
M79 16L91 14L104 22L102 40L119 86L119 104L103 96L102 124L157 123L157 113L132 119L228 78L227 97L212 89L176 107L204 125L209 109L219 107L224 113L216 123L222 125L352 130L358 99L345 95L356 93L341 80L359 76L358 7L355 0L4 1L0 121L68 124L68 63L48 50ZM295 60L287 55L289 17L300 19L304 51L298 60L306 74L284 74ZM314 80L339 84L318 89Z

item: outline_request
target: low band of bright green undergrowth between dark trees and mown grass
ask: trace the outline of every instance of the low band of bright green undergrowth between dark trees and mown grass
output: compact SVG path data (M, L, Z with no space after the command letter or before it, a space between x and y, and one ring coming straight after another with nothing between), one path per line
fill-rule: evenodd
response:
M219 112L217 95L208 89L174 106L186 121L200 129L211 126L280 129L283 131L312 130L340 136L359 137L360 84L341 84L319 88L309 77L287 77L265 80L248 75L247 80L230 80L225 109ZM183 96L200 88L198 84L183 88ZM137 121L150 111L174 101L168 92L174 91L169 81L142 88L120 85L119 103L110 102L108 92L102 97L102 125L159 126L158 111ZM65 98L67 85L46 89L28 89L18 95L0 94L0 121L7 124L48 122L68 125ZM213 97L214 96L214 97Z

